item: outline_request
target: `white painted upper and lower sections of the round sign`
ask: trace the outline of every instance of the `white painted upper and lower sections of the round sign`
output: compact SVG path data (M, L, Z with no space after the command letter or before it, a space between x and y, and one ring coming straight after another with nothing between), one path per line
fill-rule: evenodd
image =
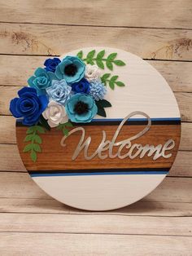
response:
M106 109L107 118L124 118L134 111L147 113L151 118L180 118L172 90L150 64L137 55L118 49L90 47L80 50L86 55L93 49L97 52L105 49L106 55L117 52L117 59L126 63L124 67L114 66L112 72L106 68L103 70L103 73L118 75L120 81L125 83L124 87L116 86L115 90L107 87L105 99L112 104ZM63 56L76 55L80 50ZM140 200L154 190L165 176L164 173L86 174L41 176L33 177L33 180L46 193L66 205L83 210L114 210Z

